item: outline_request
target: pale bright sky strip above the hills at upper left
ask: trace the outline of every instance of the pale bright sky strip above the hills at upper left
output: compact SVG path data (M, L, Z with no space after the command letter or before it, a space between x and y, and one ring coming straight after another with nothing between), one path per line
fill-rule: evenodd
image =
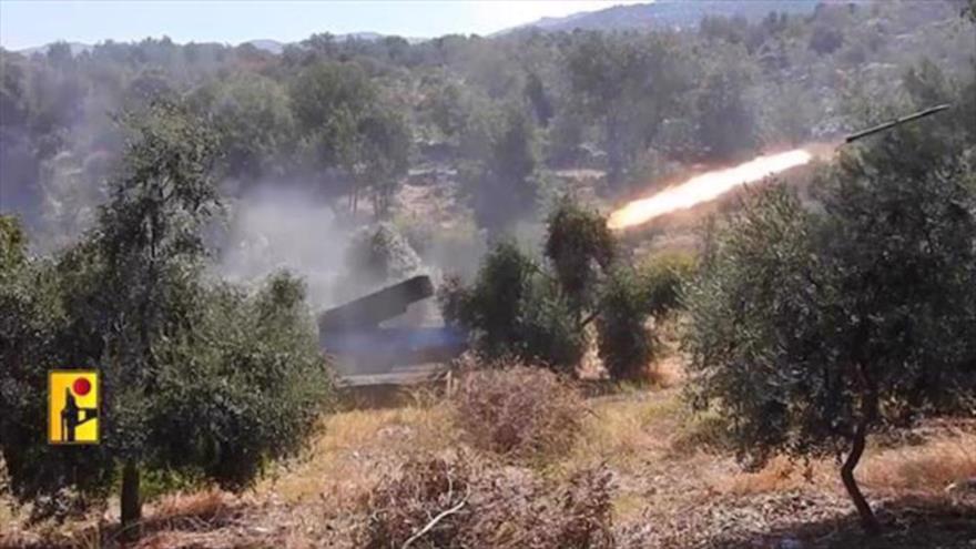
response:
M541 17L632 0L546 1L64 1L0 0L0 45L19 50L57 40L95 43L169 35L175 42L292 42L314 32L373 31L403 37L488 34Z

